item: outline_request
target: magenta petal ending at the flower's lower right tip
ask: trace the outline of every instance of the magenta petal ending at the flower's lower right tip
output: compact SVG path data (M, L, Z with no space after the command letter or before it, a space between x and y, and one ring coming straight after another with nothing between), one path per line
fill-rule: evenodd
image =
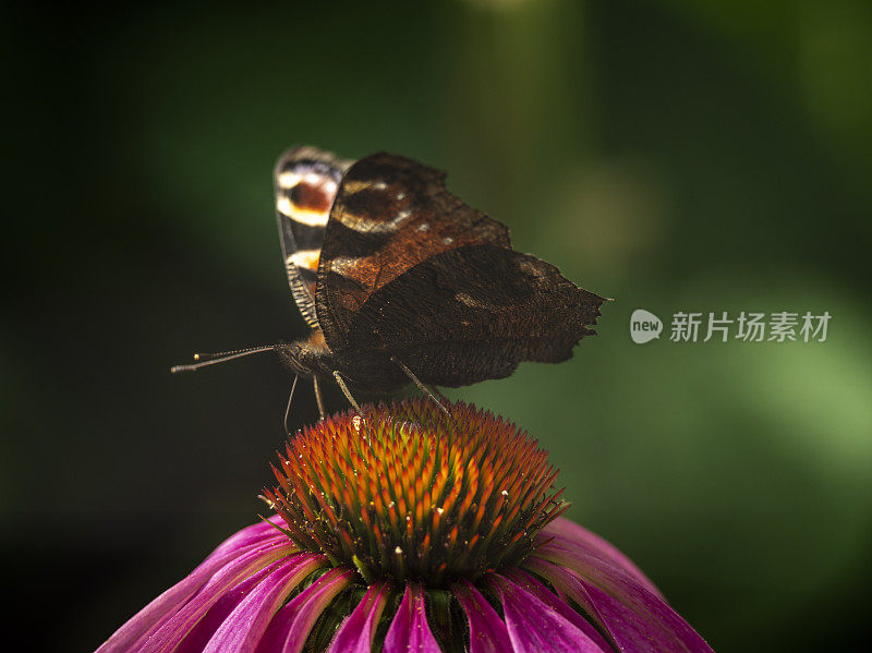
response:
M524 567L576 601L620 651L713 653L705 640L663 598L629 576L619 585L606 583L606 590L597 587L601 578L582 578L577 571L537 555L526 558Z

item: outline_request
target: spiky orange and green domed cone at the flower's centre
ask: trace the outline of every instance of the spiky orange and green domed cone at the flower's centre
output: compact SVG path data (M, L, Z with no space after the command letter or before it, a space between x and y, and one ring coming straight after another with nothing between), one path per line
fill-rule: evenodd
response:
M464 403L366 407L292 436L265 496L288 535L367 581L445 587L516 566L562 511L547 451Z

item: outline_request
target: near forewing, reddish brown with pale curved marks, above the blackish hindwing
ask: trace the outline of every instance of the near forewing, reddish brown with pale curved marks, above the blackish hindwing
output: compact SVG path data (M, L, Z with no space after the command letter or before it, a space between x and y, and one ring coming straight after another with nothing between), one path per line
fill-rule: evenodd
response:
M444 172L385 153L342 177L315 288L318 323L334 351L360 346L349 340L356 313L416 265L469 245L511 246L506 226L455 197L444 180ZM420 300L427 302L426 291Z

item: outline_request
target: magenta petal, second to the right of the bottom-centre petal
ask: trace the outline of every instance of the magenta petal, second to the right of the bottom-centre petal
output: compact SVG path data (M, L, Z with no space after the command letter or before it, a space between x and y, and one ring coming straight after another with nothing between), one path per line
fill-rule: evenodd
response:
M519 653L603 653L602 649L572 621L507 578L491 575L487 580L499 595L511 643Z

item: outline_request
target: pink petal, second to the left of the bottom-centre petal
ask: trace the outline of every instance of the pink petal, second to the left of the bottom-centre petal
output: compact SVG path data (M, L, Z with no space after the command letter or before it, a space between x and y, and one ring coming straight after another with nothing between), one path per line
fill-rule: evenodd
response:
M356 572L336 567L282 607L257 646L257 653L300 653L324 608L346 589Z

